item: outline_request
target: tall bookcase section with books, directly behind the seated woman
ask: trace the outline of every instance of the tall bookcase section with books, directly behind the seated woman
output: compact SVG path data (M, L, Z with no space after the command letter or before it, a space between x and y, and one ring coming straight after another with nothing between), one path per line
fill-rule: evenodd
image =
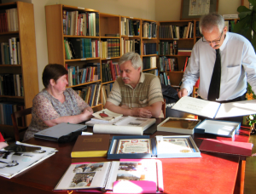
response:
M101 88L100 35L106 31L100 28L99 22L104 16L94 9L62 4L45 6L45 16L49 63L61 64L67 68L68 88L73 88L79 94ZM69 54L74 57L67 57ZM84 100L88 100L87 103L94 111L102 110L101 89L99 91L100 97L96 104L88 96L84 96ZM96 92L93 96L96 96Z

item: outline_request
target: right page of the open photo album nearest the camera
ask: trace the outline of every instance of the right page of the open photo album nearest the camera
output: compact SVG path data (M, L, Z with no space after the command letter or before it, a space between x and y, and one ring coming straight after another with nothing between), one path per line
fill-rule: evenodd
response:
M106 185L107 191L113 190L114 181L148 180L157 183L156 163L154 160L140 162L113 162ZM134 185L136 187L136 185ZM125 188L124 188L125 191Z

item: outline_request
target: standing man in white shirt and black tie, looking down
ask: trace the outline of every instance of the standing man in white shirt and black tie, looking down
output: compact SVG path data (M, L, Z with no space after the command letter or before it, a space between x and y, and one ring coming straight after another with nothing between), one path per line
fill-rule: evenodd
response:
M203 16L199 27L203 37L192 50L179 98L191 94L199 77L198 94L204 100L245 100L247 82L255 93L256 56L247 38L229 32L220 14Z

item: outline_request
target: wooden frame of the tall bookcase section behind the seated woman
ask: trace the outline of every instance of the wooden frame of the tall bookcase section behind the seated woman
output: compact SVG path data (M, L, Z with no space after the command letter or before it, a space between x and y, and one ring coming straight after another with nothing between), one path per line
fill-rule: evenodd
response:
M62 4L48 5L45 6L45 16L46 16L46 30L47 30L47 43L48 43L48 58L49 63L61 64L62 66L79 66L79 68L84 68L90 66L92 63L101 63L100 57L90 57L81 59L71 59L67 60L66 51L64 45L64 39L72 38L84 38L100 41L100 36L81 36L81 35L67 35L63 33L63 10L67 12L78 11L80 13L97 13L99 12L94 9L84 9L80 7L73 7ZM99 17L102 17L99 15ZM99 28L99 33L103 34L105 31L103 28ZM100 75L102 77L102 72ZM88 86L93 83L101 84L101 79L92 82L85 82L80 84L75 84L69 86L71 88L81 88ZM102 94L100 94L99 103L96 106L91 106L94 111L102 110Z

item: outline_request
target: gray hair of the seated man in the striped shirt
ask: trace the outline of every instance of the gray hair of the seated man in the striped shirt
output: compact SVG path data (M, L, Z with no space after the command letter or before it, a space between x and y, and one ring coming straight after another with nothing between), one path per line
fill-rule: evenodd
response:
M119 59L119 66L121 66L126 61L131 60L131 66L133 66L135 69L142 67L141 71L143 71L143 61L139 54L134 52L129 52L123 54Z

